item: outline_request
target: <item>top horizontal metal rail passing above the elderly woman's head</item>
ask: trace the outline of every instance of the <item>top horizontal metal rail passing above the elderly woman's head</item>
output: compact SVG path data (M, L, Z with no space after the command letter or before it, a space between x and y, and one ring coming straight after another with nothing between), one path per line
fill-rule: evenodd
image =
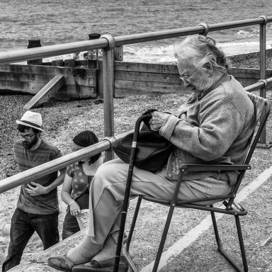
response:
M267 21L262 18L251 18L240 21L232 21L225 23L215 23L207 25L202 23L198 26L188 28L176 28L172 30L161 30L149 33L139 33L131 35L121 35L114 37L115 46L129 45L138 42L148 42L152 40L162 40L169 38L176 38L185 35L202 34L208 32L224 30L229 28L240 28L243 26L253 26L263 23L271 23L272 16L266 17ZM208 28L208 29L206 29ZM57 55L64 55L74 52L86 51L91 49L108 47L108 40L103 36L97 40L84 40L81 42L69 42L62 45L48 45L44 47L28 48L22 50L13 50L0 53L0 64L7 64L13 62L22 62L25 60L35 60L42 57L54 57Z

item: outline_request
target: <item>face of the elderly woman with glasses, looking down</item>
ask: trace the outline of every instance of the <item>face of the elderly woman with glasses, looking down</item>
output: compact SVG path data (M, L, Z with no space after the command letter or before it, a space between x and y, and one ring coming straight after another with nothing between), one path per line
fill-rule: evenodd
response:
M212 86L212 79L204 67L196 67L188 60L178 60L179 74L184 86L196 94L200 94Z

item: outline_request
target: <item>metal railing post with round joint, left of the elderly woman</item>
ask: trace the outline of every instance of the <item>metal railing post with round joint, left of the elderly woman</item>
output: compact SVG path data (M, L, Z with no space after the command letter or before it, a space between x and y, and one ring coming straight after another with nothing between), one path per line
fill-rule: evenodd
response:
M101 39L108 40L108 47L103 49L103 100L104 100L104 135L105 137L114 136L113 123L113 49L115 47L115 39L112 35L102 35ZM113 159L114 153L110 149L105 152L105 162Z

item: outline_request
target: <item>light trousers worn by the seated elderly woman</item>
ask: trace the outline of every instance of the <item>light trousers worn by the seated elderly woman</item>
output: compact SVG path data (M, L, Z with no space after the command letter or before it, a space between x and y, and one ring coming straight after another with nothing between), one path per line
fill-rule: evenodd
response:
M165 173L166 169L153 174L134 167L130 200L142 195L171 200L176 181L165 179ZM87 235L94 244L103 244L108 235L117 242L127 175L128 164L120 159L113 159L102 164L91 181ZM179 200L207 197L208 194L189 186L186 181L181 183Z

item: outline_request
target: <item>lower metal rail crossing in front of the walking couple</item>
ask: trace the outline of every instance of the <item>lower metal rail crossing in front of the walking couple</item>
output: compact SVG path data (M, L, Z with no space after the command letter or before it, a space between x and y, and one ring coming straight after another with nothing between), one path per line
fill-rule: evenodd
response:
M111 144L115 142L115 140L124 137L132 131L133 130L130 130L116 137L102 140L101 142L98 142L95 145L91 145L90 147L85 147L76 152L72 152L58 159L46 162L45 164L40 164L26 171L15 174L14 176L3 179L0 182L0 193L4 193L8 190L21 186L23 183L29 183L30 181L34 181L35 179L38 179L42 176L63 169L69 164L79 162L81 159L86 159L88 157L94 156L95 154L111 149Z

